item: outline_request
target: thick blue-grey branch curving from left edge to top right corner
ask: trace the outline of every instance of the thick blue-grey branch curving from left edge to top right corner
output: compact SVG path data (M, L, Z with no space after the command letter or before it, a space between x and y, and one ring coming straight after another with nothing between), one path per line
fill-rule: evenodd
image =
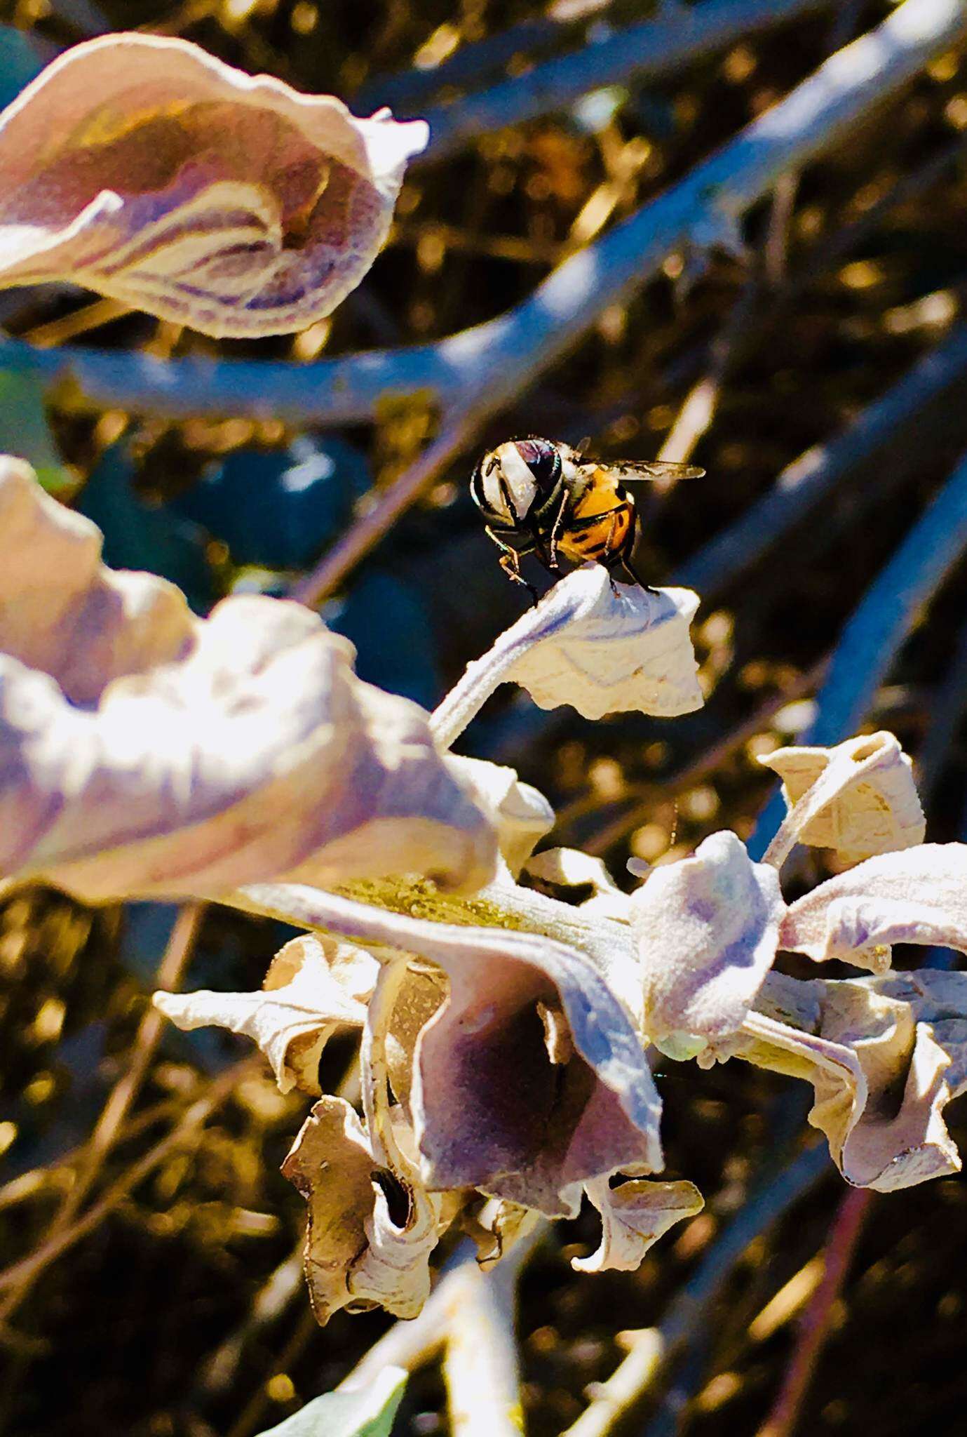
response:
M741 216L780 175L835 148L964 32L967 9L958 0L904 0L678 184L565 260L516 309L438 343L290 365L34 351L10 339L0 345L0 361L49 379L72 376L96 405L171 417L249 414L332 425L374 418L388 395L415 394L445 398L451 414L493 412L570 349L602 310L639 290L668 254L733 246Z

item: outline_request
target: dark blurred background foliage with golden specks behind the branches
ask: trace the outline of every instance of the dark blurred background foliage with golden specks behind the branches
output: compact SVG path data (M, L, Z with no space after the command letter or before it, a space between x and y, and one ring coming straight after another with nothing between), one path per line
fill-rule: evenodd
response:
M414 167L362 287L295 338L216 343L69 287L3 293L0 320L37 346L293 365L445 336L523 299L888 9L818 6L644 86L592 89L563 114ZM7 0L0 99L65 45L141 26L332 91L361 112L388 102L411 115L648 13L635 0ZM688 575L786 466L885 402L878 441L846 456L816 509L776 542L766 535L763 556L741 572L727 556L718 565L695 627L701 713L591 724L568 708L539 713L506 690L466 736L464 752L513 763L549 795L557 842L602 854L618 875L629 856L684 854L720 826L751 832L770 787L756 757L809 727L838 634L967 444L963 358L922 402L889 408L911 366L957 339L966 131L967 55L953 52L753 210L747 260L713 251L695 267L672 257L626 305L605 309L323 606L356 645L365 678L432 706L522 606L467 494L487 443L591 434L598 454L654 457L674 435L694 448L707 479L645 506L639 568L660 582ZM98 411L69 385L45 394L4 371L0 348L0 448L24 454L57 497L96 520L109 563L172 579L198 612L230 592L283 593L415 458L435 422L421 402L339 433ZM966 598L956 569L917 614L868 713L871 727L894 729L924 756L934 839L964 835ZM822 861L803 859L818 872ZM0 1329L0 1433L11 1437L249 1437L333 1387L387 1326L339 1313L319 1332L309 1315L293 1257L302 1201L277 1171L302 1099L280 1096L244 1048L218 1035L165 1029L147 1042L147 994L172 951L174 923L162 905L88 912L53 894L20 895L0 912L0 1242L14 1263L52 1232L70 1237L23 1283ZM208 910L185 981L254 987L283 937L277 925ZM137 1101L101 1151L105 1099L139 1053ZM348 1056L339 1045L326 1052L336 1083ZM806 1098L793 1083L739 1065L701 1073L674 1063L658 1081L670 1173L697 1181L708 1209L632 1275L570 1272L566 1259L596 1240L588 1214L559 1224L539 1250L519 1326L535 1437L579 1417L588 1384L622 1357L622 1329L661 1318L749 1194L799 1148ZM210 1102L204 1132L185 1137L198 1101ZM963 1145L963 1112L953 1124ZM57 1227L78 1173L89 1175L80 1216ZM774 1431L762 1424L841 1198L829 1168L746 1247L691 1323L683 1365L615 1431ZM797 1430L964 1430L966 1242L958 1181L872 1200ZM412 1380L397 1430L447 1430L435 1368Z

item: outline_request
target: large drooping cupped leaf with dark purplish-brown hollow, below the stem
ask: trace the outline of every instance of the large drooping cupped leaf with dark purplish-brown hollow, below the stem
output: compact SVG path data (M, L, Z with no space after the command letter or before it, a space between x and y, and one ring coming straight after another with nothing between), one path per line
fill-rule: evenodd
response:
M427 1187L480 1187L563 1216L588 1178L661 1168L661 1105L641 1040L582 953L330 894L312 907L320 927L420 954L450 979L420 1033L410 1095Z

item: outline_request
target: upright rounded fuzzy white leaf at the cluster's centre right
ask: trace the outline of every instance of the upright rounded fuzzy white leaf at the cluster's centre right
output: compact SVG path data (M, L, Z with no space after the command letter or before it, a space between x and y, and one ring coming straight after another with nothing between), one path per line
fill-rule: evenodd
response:
M785 911L779 877L731 832L655 868L631 897L645 1030L670 1056L736 1033L772 967Z

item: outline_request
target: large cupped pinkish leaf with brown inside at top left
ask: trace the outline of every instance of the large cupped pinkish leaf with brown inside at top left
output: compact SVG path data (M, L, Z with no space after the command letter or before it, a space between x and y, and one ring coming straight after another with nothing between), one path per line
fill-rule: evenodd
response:
M0 285L72 280L216 336L303 329L382 247L422 121L106 34L0 115Z

